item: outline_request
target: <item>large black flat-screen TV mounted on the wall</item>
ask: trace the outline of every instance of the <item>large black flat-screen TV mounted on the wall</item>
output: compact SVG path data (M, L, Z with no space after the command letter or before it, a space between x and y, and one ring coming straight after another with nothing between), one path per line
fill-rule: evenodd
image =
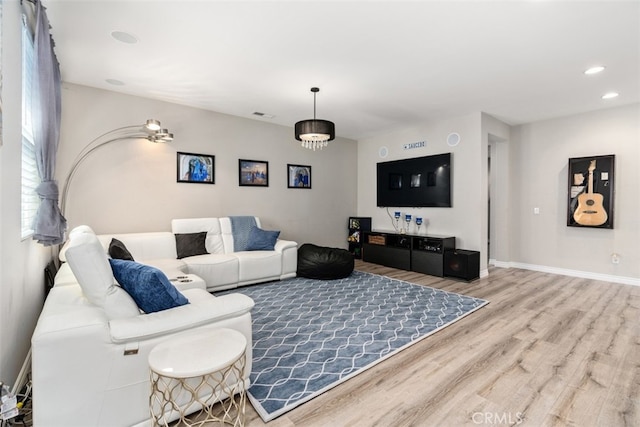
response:
M378 163L379 207L451 207L451 153Z

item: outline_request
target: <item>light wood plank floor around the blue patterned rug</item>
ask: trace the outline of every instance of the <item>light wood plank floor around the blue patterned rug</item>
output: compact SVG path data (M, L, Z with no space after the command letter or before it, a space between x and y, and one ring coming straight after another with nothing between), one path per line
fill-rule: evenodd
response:
M640 426L640 287L492 268L471 283L356 269L490 304L250 427Z

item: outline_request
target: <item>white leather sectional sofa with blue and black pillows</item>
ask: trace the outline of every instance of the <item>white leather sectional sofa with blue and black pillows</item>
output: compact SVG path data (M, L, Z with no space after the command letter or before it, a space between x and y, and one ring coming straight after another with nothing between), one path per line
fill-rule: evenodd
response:
M256 218L256 224L260 222ZM241 294L208 291L295 276L297 244L234 252L229 218L177 219L173 232L96 236L89 227L70 233L32 337L34 425L132 426L149 422L149 352L194 329L231 328L247 339L246 386L251 372L251 309ZM209 254L177 259L175 234L206 232ZM108 250L118 239L140 264L168 278L203 280L175 287L188 304L143 313L117 286ZM195 276L191 276L195 275Z

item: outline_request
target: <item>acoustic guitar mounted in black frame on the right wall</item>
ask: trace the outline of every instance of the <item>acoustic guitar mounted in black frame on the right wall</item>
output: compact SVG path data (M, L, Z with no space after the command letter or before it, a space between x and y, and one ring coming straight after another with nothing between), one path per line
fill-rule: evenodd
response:
M615 155L569 159L567 225L613 228Z

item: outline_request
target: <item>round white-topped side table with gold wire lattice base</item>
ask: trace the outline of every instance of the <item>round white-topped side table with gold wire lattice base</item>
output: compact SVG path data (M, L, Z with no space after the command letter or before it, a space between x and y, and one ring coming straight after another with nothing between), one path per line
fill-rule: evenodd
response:
M202 329L154 347L149 353L153 425L178 419L187 426L212 421L244 426L246 346L244 335L233 329Z

